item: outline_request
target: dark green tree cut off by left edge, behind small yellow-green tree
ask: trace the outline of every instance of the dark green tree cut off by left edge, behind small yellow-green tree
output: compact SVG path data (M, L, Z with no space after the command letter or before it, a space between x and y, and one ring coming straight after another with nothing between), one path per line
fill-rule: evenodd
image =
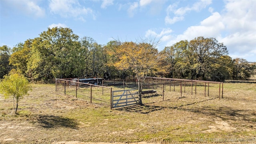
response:
M11 70L9 58L10 48L5 45L0 46L0 79L3 78L4 75L8 74L8 72Z

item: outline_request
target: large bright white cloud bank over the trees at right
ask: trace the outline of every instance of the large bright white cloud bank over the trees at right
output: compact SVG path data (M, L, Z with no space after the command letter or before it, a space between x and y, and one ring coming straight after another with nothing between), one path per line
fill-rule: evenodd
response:
M206 4L207 5L207 4ZM232 58L256 61L256 1L228 0L222 13L209 11L212 15L198 26L188 27L183 34L173 36L166 46L180 40L192 40L198 36L216 38L227 46ZM194 7L194 10L200 9ZM182 14L179 12L179 14ZM170 21L171 22L171 21Z

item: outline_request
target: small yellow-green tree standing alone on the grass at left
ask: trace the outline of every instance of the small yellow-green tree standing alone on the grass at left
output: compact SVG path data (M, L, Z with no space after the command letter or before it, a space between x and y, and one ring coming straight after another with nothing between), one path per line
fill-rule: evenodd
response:
M0 93L4 94L4 98L13 97L15 114L17 114L18 103L23 96L28 95L30 89L28 80L22 74L10 72L0 81Z

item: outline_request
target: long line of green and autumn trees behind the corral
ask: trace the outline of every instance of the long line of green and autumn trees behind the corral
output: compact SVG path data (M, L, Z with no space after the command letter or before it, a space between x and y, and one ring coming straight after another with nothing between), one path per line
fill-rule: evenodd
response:
M197 37L166 46L159 41L112 40L106 45L74 34L70 28L48 28L38 38L18 43L12 49L0 47L0 78L15 69L30 81L52 82L54 78L140 75L194 80L246 80L255 74L256 64L232 59L223 43Z

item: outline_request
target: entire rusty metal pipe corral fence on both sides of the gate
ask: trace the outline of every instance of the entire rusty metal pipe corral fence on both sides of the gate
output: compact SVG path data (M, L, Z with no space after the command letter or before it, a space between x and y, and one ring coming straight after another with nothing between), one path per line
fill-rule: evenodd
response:
M78 82L77 78L56 78L56 91L82 98L91 103L107 104L111 108L112 91L131 89L138 90L138 81L135 77L121 80L102 80L102 86ZM223 82L146 77L143 91L149 91L142 95L143 104L156 102L166 102L167 104L167 102L182 98L187 101L198 102L212 98L223 98Z

